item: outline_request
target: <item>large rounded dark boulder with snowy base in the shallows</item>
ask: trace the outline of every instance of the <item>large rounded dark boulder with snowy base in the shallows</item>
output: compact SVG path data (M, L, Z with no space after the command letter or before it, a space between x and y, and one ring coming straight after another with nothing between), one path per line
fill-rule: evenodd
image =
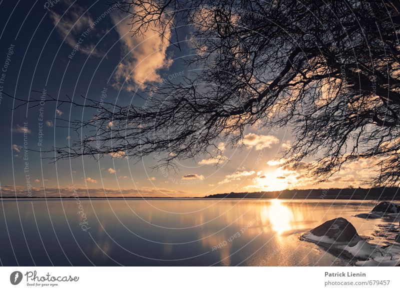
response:
M309 233L316 237L327 236L331 243L348 243L361 240L354 226L342 217L325 221L321 225L311 229ZM307 237L311 238L310 235L307 235ZM321 240L321 242L324 241Z

